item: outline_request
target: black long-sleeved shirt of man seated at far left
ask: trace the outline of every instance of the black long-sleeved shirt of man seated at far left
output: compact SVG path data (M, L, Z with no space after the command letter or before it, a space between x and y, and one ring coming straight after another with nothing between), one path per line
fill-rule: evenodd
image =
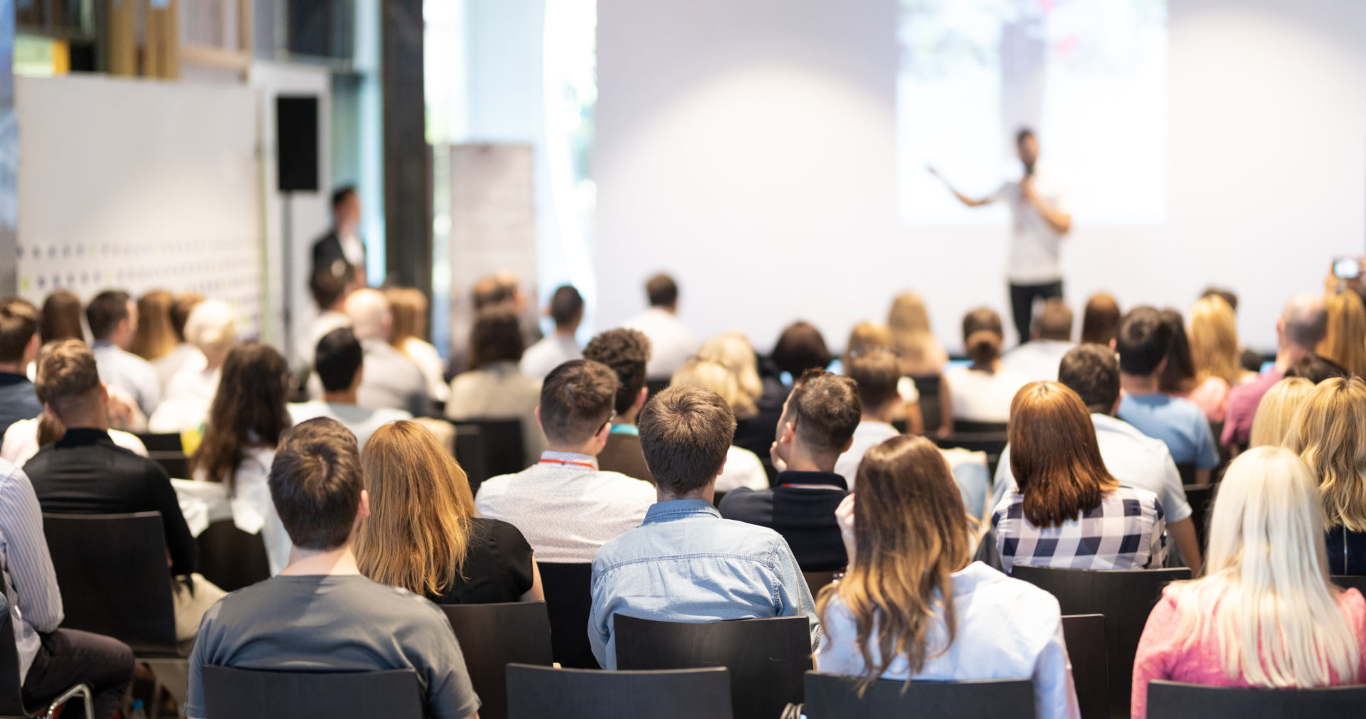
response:
M74 428L23 465L38 505L51 514L160 512L171 573L194 572L194 538L161 465L113 443L104 430Z

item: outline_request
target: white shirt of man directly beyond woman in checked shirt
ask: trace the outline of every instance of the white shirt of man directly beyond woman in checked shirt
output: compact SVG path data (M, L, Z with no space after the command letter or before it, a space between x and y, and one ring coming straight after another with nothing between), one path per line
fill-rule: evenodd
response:
M1120 484L1156 494L1168 524L1191 516L1182 475L1176 471L1172 453L1161 439L1153 439L1132 424L1098 412L1091 413L1091 423L1096 426L1101 460ZM999 505L1001 498L1014 491L1016 484L1015 475L1011 473L1011 447L1007 446L1001 452L1001 463L996 467L992 506Z

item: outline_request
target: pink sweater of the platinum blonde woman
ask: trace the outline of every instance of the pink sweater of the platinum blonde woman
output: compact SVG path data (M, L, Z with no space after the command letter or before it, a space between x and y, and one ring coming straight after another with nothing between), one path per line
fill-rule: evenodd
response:
M1366 599L1361 592L1348 589L1337 596L1337 607L1347 618L1347 625L1356 633L1356 644L1366 648ZM1218 607L1214 608L1218 611ZM1143 639L1138 643L1134 658L1134 692L1130 716L1147 716L1147 682L1168 679L1173 682L1202 684L1208 686L1251 686L1242 677L1236 679L1224 674L1218 639L1206 636L1190 648L1183 648L1176 637L1182 617L1171 589L1162 592L1162 599L1153 607L1143 628ZM1356 677L1333 675L1333 685L1366 682L1366 662Z

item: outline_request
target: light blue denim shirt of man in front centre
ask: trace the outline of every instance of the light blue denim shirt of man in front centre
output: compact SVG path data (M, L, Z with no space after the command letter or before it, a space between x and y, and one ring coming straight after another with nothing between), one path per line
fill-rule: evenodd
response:
M769 617L821 623L792 550L773 529L732 520L705 499L660 502L645 523L593 558L589 641L602 669L616 669L613 614L665 622Z

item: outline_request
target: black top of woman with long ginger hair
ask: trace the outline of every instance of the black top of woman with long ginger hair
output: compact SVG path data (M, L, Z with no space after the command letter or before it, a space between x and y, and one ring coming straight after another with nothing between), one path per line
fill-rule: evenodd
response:
M516 602L534 581L531 546L516 527L503 520L470 517L470 546L460 572L463 578L428 599L437 604Z

